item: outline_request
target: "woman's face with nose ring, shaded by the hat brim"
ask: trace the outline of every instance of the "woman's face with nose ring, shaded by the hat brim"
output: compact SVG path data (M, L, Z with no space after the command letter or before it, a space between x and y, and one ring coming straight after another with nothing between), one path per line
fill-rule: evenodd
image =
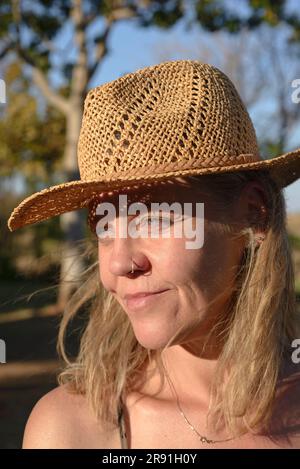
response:
M111 201L117 209L118 196L106 201ZM122 238L118 226L124 216L117 210L116 218L108 226L111 236L106 240L98 238L101 281L124 308L142 346L163 347L179 328L182 331L176 344L192 338L202 340L225 310L230 298L228 288L233 285L242 246L229 234L218 233L215 229L226 218L220 217L219 212L216 214L212 200L204 192L196 193L195 189L185 185L167 184L153 188L151 192L149 189L145 193L142 190L132 194L127 192L128 207L135 201L178 202L184 215L183 204L192 204L193 212L190 216L187 214L186 219L191 221L192 218L193 226L198 226L198 230L196 202L204 203L203 245L190 248L184 234L174 236L175 225L183 226L184 223L180 214L175 215L170 236L163 238L165 223L173 219L166 211L161 213L162 222L157 214L153 214L149 223L145 222L147 217L141 221L139 228L144 235L147 231L148 237L133 238L128 234ZM131 220L134 215L128 216L128 222ZM159 237L150 236L149 225L156 228ZM130 273L131 259L134 260L134 273ZM140 292L161 293L126 299L126 295ZM208 307L213 299L216 302Z

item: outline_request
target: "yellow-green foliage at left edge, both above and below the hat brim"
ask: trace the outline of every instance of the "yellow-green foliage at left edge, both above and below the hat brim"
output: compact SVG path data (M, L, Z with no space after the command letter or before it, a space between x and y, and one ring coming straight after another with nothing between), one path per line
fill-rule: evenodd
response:
M0 119L0 276L8 279L22 273L32 277L48 272L59 262L58 220L33 225L25 236L21 232L12 237L7 219L17 204L16 185L18 192L25 192L25 188L35 192L56 183L65 145L65 120L52 106L41 112L19 61L10 62L3 77L7 103ZM63 89L60 92L63 94Z

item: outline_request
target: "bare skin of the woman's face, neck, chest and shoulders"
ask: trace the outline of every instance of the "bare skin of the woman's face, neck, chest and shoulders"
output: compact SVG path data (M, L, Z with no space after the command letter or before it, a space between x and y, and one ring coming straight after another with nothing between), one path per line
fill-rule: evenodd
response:
M188 250L185 239L174 237L116 236L107 242L99 241L101 281L123 306L142 346L152 350L164 347L177 329L182 328L179 337L163 354L165 369L185 415L198 432L216 440L227 439L231 436L227 432L215 433L206 426L209 388L222 346L216 334L212 333L208 340L208 333L217 320L230 315L228 299L246 241L232 234L218 233L215 224L228 222L233 232L249 226L249 219L252 220L264 205L263 189L258 183L248 183L230 216L221 213L208 195L201 191L196 194L194 189L186 190L178 184L165 186L162 191L157 187L144 192L134 190L128 197L128 204L158 199L170 203L174 200L204 202L203 246ZM109 200L107 196L105 200ZM112 196L111 201L117 202L117 199ZM117 216L116 233L119 221ZM255 234L263 233L255 227ZM134 273L130 273L131 258L136 263ZM123 298L126 293L165 288L168 291L157 300L135 311ZM291 418L292 426L299 428L299 382L298 379L293 386L288 385L278 400L272 416L275 429L282 428L283 416ZM226 443L200 443L197 434L183 421L179 401L171 387L166 384L153 396L159 384L159 375L155 373L142 387L126 395L124 418L131 448L278 448L278 444L266 436L249 433ZM280 447L299 448L299 435L292 440L292 446L283 439ZM26 424L23 448L119 449L120 436L118 429L108 432L102 428L84 395L58 386L34 407Z

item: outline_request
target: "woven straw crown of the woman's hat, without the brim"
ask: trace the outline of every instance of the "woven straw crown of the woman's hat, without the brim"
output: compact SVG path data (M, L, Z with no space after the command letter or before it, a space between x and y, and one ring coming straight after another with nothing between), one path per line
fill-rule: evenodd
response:
M212 65L163 62L93 88L85 99L78 140L83 181L258 160L249 114Z

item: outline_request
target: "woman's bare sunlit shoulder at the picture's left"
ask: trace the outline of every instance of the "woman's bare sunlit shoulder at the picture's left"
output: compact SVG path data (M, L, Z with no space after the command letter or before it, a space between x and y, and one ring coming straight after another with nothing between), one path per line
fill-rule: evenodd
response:
M27 420L23 449L110 448L116 432L104 431L85 396L58 386L34 406Z

